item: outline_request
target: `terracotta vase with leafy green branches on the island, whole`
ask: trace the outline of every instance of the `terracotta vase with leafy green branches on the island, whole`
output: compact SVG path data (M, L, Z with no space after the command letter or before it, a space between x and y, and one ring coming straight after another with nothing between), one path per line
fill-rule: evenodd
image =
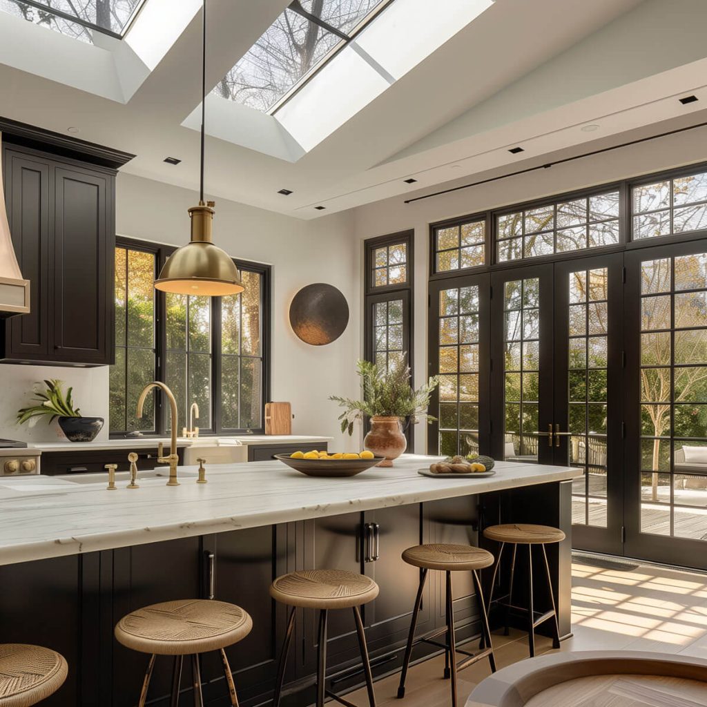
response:
M437 387L437 376L430 378L419 390L410 385L410 368L405 363L404 354L399 361L386 370L370 361L358 361L356 373L361 378L363 400L332 395L329 400L339 403L344 412L339 415L341 432L354 433L354 421L370 418L370 430L363 440L363 447L376 456L385 457L379 467L392 467L392 460L399 457L407 447L401 422L416 423L425 416L429 421L427 408L430 396Z

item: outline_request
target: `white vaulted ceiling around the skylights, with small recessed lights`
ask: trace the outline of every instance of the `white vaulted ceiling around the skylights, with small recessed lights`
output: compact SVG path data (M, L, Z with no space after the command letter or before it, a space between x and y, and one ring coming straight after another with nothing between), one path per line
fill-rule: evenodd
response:
M147 0L124 40L94 45L0 13L0 114L71 127L134 153L124 172L196 191L201 12L198 0L180 0L178 11L165 1ZM463 1L436 0L435 14ZM208 86L287 5L209 0ZM156 33L162 9L170 22ZM495 0L307 151L293 150L271 116L209 97L206 192L317 218L568 148L589 151L652 124L699 122L705 26L702 0ZM699 100L683 105L685 95ZM516 146L523 151L508 151ZM168 156L182 161L169 165Z

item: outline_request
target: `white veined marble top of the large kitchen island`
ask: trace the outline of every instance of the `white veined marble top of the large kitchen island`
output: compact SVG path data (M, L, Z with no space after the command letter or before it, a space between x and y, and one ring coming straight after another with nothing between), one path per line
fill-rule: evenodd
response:
M306 477L276 460L214 464L207 465L207 484L194 483L197 467L180 467L180 486L153 477L139 480L140 488L132 491L124 481L117 491L105 491L105 481L3 477L0 565L564 481L582 473L519 462L497 462L496 474L484 479L417 473L439 458L404 455L392 469L373 467L343 479Z

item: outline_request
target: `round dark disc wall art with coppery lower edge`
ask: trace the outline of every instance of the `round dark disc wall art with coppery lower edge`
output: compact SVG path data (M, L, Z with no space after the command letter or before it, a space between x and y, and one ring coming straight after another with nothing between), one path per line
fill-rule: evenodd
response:
M303 287L290 305L293 332L312 346L336 341L349 323L349 305L333 285L317 282Z

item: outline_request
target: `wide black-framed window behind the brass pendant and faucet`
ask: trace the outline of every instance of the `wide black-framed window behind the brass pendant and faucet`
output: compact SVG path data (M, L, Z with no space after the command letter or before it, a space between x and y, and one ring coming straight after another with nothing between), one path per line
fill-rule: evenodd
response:
M154 279L173 247L118 239L116 361L110 370L110 433L169 431L168 409L153 392L137 420L137 398L163 380L177 399L179 431L199 406L202 433L264 430L269 385L268 266L234 260L245 291L227 297L158 293Z

